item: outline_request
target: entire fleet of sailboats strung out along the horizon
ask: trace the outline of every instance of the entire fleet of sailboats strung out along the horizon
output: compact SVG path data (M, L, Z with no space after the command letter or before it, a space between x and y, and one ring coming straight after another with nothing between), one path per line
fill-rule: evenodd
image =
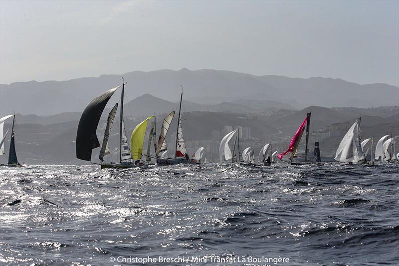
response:
M176 164L194 164L198 165L206 163L205 148L200 147L192 156L189 156L186 149L185 140L183 137L182 127L182 100L183 87L180 95L180 104L178 112L178 121L176 129L175 149L172 153L169 152L166 144L166 137L170 130L170 125L175 117L175 111L171 111L163 120L161 130L157 140L156 132L156 116L147 117L140 122L132 131L130 141L126 135L126 128L123 116L123 100L125 91L125 81L122 86L109 89L97 97L95 97L84 109L79 120L77 134L76 134L76 157L80 160L90 161L93 164L99 164L101 169L104 168L134 168L134 167L148 167L153 164L156 166L176 165ZM120 89L120 87L122 87ZM102 113L114 93L120 89L120 102L115 103L113 108L109 111L103 140L100 144L97 137L97 127L100 122ZM111 128L119 107L119 148L113 149L118 151L119 160L112 162L111 149L109 138L111 135ZM4 133L4 122L12 117L12 125ZM147 147L143 153L144 142L148 124L150 122L151 130L147 137ZM266 143L259 151L257 159L255 160L254 150L251 147L246 147L240 151L240 136L238 128L227 133L220 141L219 146L219 161L221 163L241 163L255 166L270 166L272 163L279 161L290 163L291 165L321 163L321 153L319 142L314 145L313 160L308 158L308 142L310 132L311 112L307 113L306 117L300 124L299 128L292 137L288 148L278 153L278 150L273 151L272 143ZM4 141L7 137L8 131L11 130L10 146L8 152L8 163L0 164L0 166L19 167L21 166L17 160L15 151L15 114L6 115L0 118L0 156L4 154ZM302 139L302 135L306 130L305 137L305 151L298 151L298 145ZM336 149L335 161L348 164L374 164L376 161L380 162L397 162L399 153L396 154L395 143L398 136L391 137L385 135L380 138L374 148L374 138L362 139L361 137L361 117L359 117L353 125L349 128ZM230 149L232 146L232 149ZM101 147L98 159L100 162L92 161L92 150ZM151 152L153 147L153 153ZM371 153L371 162L367 157ZM373 154L374 152L374 154ZM171 155L171 156L170 156ZM301 156L303 155L303 156ZM301 158L302 162L295 158ZM287 159L289 161L287 161ZM152 160L154 159L154 160Z

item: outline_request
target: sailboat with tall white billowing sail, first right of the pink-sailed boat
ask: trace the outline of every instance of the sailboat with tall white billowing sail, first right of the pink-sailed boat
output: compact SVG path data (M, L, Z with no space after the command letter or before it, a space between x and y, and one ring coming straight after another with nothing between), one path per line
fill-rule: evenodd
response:
M345 134L335 153L334 160L350 164L364 161L364 153L360 141L360 120L361 117L353 123Z

